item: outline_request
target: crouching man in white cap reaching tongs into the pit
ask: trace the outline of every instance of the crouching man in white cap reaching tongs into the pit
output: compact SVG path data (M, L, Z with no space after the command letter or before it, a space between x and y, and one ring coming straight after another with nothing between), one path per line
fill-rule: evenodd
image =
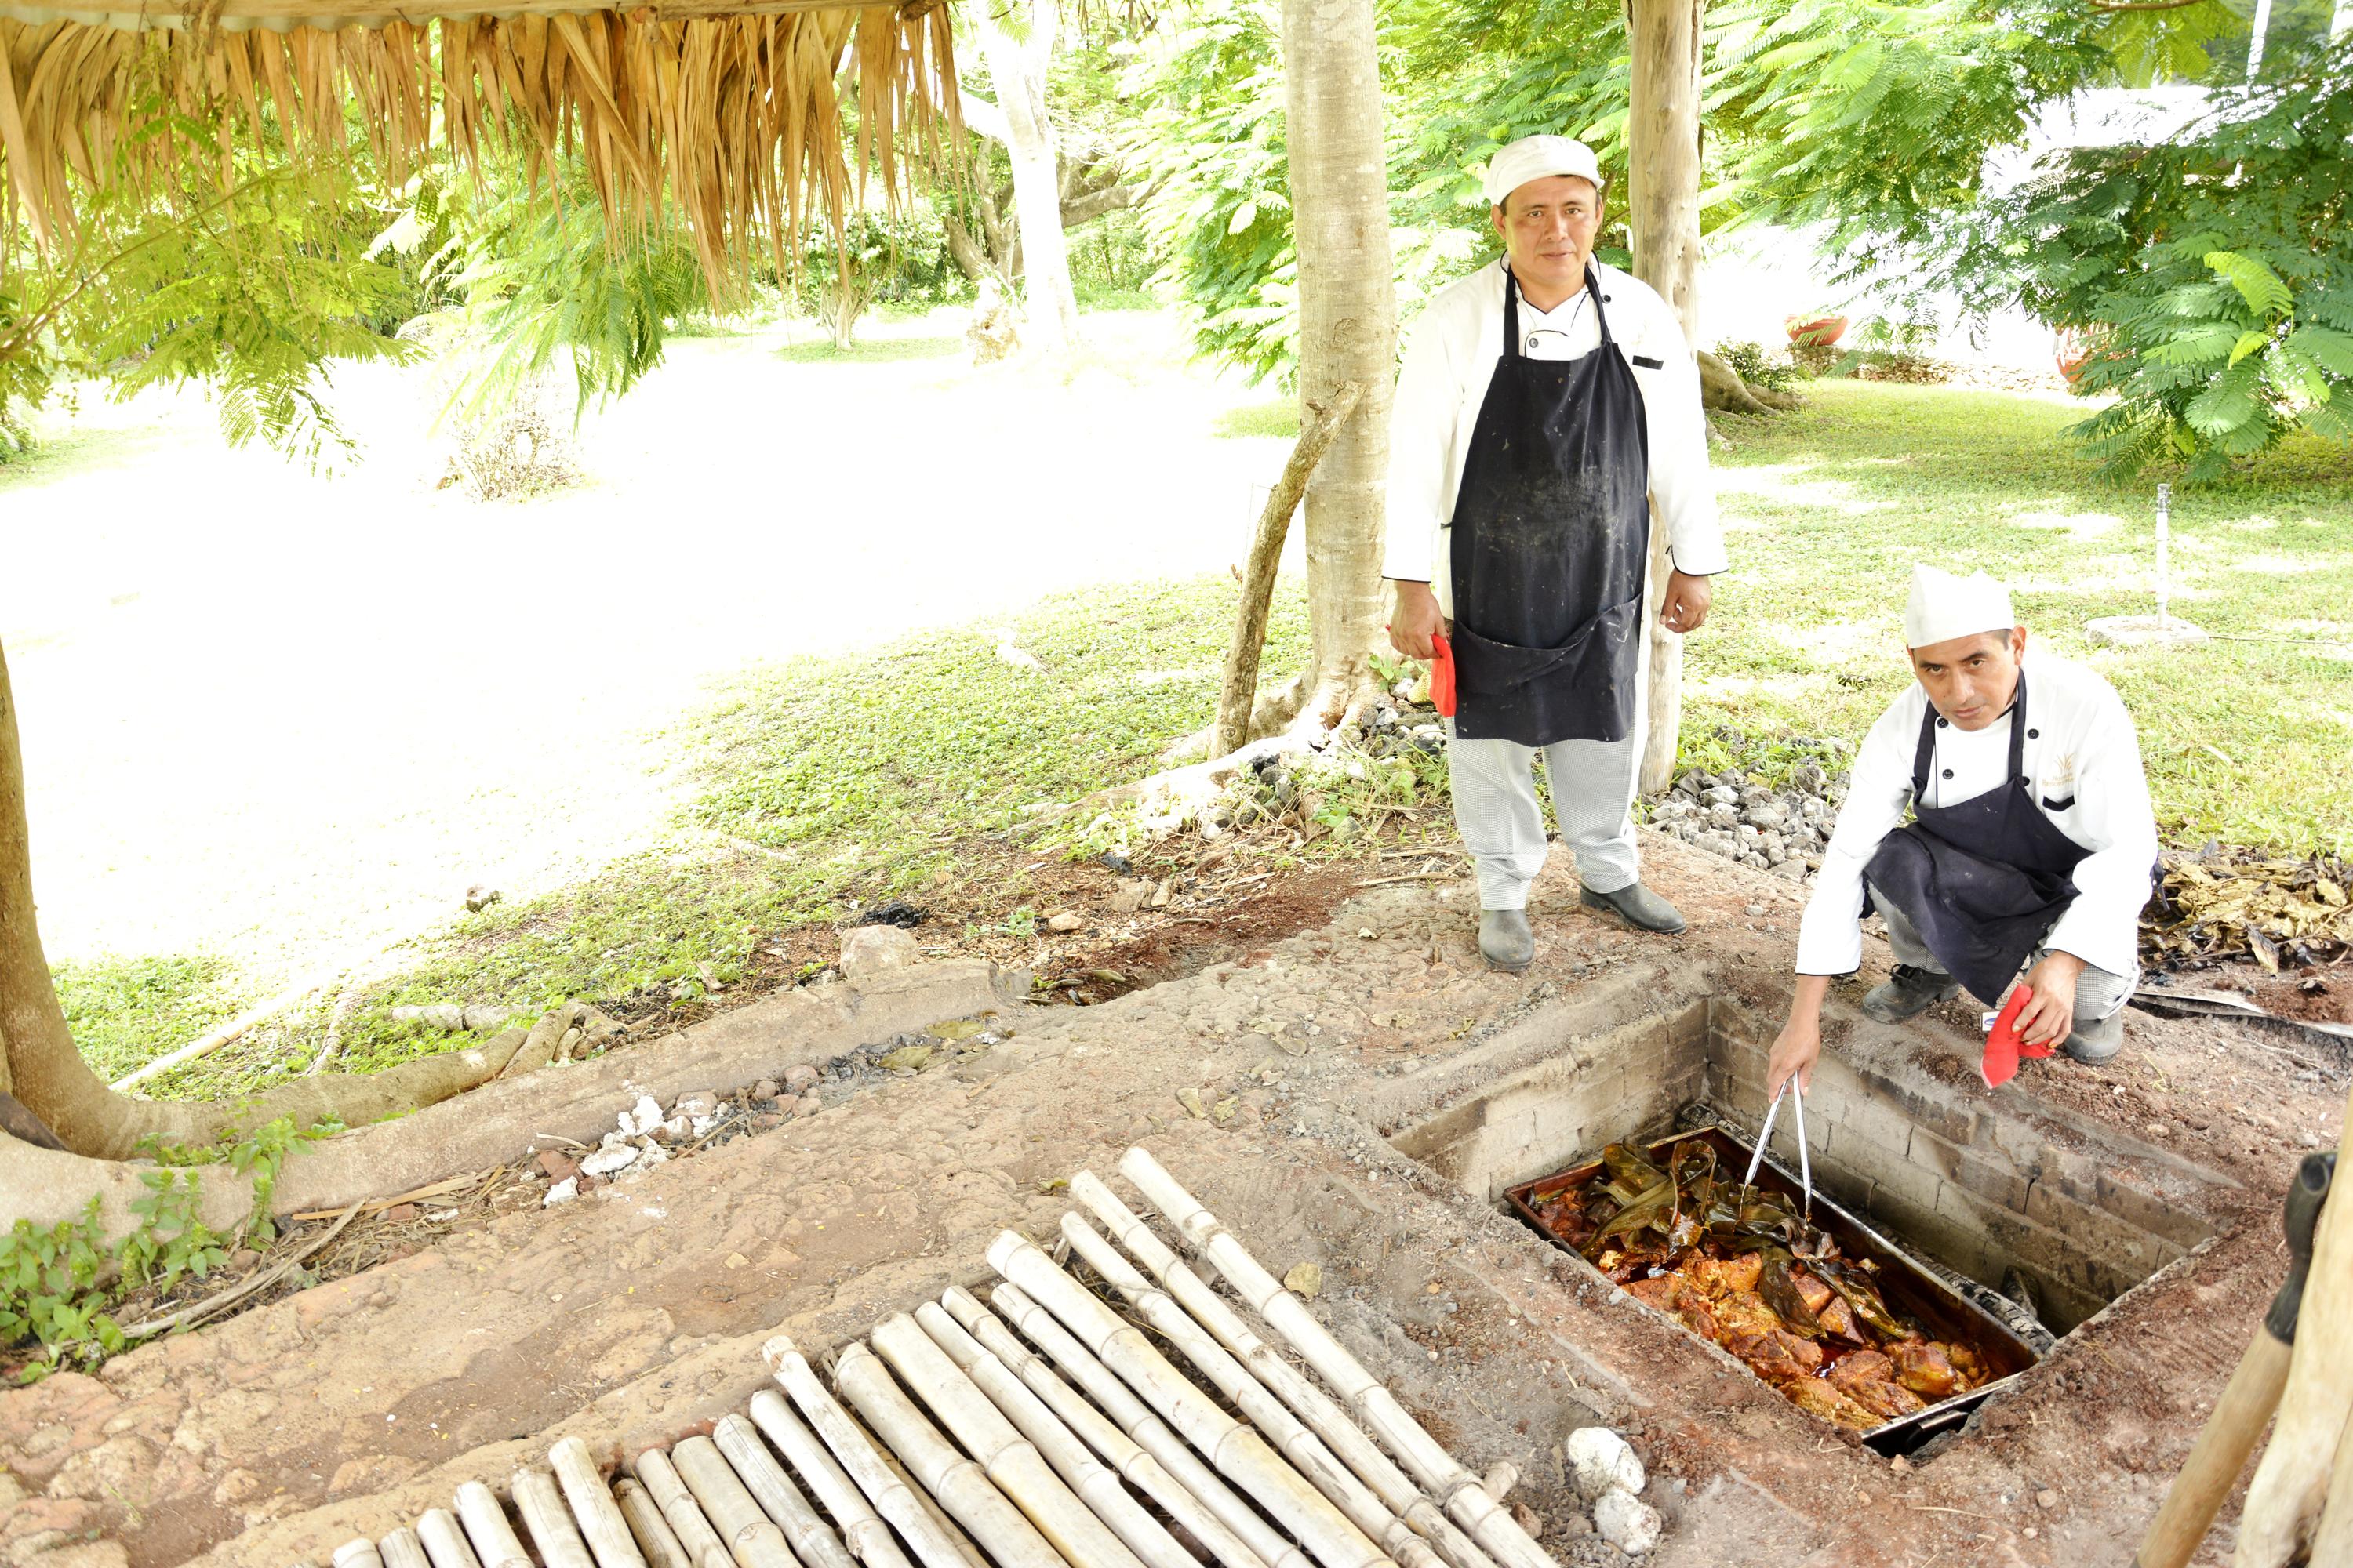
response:
M1861 964L1873 907L1897 961L1864 997L1871 1018L1901 1023L1962 987L2000 1006L2024 969L2026 1044L2078 1063L2122 1044L2158 860L2132 715L2092 670L2028 658L2009 590L1984 571L1915 567L1904 642L1915 679L1854 757L1767 1093L1791 1072L1812 1081L1821 999Z

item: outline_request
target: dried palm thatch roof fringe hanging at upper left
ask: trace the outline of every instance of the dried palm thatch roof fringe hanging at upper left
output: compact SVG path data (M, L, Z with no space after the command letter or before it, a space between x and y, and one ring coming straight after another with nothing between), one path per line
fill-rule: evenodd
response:
M854 94L849 155L838 94ZM896 188L901 162L939 158L960 125L941 0L424 0L398 14L0 0L0 197L45 235L73 233L78 188L162 172L167 108L224 141L299 150L339 146L348 106L393 179L435 146L478 160L513 136L534 167L579 155L616 226L668 193L713 277L739 270L753 235L786 247L816 212L840 219L868 167Z

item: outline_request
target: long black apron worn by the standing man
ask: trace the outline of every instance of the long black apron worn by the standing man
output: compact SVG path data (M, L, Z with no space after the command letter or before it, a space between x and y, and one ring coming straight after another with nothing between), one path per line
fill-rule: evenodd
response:
M1454 733L1464 741L1624 741L1633 731L1649 567L1649 428L1642 388L1600 348L1520 350L1520 284L1504 268L1497 360L1454 498Z

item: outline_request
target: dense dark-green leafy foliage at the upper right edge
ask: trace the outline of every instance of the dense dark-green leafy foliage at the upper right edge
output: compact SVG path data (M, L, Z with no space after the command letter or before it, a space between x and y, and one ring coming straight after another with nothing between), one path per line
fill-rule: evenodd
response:
M2148 148L2082 148L1974 216L1960 268L2080 334L2078 430L2115 473L2214 480L2297 428L2353 442L2353 40L2214 94Z

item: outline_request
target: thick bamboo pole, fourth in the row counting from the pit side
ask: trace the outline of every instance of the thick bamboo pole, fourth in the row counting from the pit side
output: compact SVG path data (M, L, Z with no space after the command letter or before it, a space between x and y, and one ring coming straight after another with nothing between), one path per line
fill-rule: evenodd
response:
M1052 1258L1019 1232L998 1232L988 1265L1061 1319L1078 1342L1144 1394L1205 1460L1289 1530L1325 1568L1391 1568L1355 1523L1325 1500L1257 1432L1233 1420L1169 1366L1144 1331L1078 1288Z

